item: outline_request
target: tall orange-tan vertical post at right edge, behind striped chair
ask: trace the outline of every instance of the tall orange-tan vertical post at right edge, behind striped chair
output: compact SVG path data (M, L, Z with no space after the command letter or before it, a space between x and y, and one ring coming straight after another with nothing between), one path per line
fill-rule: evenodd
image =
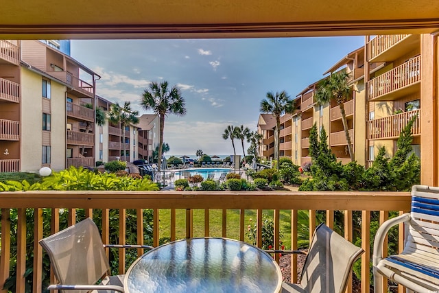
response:
M438 186L438 36L420 36L420 183ZM432 60L431 60L432 58Z

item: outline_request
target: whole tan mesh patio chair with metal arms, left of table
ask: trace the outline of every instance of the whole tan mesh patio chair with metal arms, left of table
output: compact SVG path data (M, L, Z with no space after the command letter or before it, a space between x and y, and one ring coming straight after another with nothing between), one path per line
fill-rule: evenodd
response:
M40 245L49 255L52 270L58 284L49 285L49 290L59 292L123 292L123 277L104 275L110 266L104 247L148 248L139 245L102 244L101 235L91 218L40 240ZM100 284L97 284L102 281Z

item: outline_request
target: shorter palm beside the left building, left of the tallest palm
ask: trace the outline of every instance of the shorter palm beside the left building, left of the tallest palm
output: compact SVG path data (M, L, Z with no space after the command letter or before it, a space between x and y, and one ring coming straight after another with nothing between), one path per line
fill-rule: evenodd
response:
M139 123L139 111L132 110L130 106L130 102L124 102L123 107L119 106L118 103L112 104L110 107L110 111L107 113L108 120L112 124L120 124L120 136L123 143L123 158L126 161L126 143L125 143L125 127L130 124L138 124ZM123 134L122 134L123 133ZM119 152L121 152L121 148L119 145Z

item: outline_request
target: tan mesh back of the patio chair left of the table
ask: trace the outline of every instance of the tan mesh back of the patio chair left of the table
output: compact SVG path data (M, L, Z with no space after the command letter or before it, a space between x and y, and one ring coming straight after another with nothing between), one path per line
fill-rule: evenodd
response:
M41 239L39 243L49 254L60 284L95 284L109 270L101 235L90 218ZM69 293L87 291L67 290Z

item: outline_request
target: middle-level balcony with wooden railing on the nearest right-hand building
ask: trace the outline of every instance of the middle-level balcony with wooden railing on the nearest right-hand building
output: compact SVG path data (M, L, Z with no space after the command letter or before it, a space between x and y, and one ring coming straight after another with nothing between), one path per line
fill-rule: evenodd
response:
M420 91L420 56L368 82L370 101L393 101Z

